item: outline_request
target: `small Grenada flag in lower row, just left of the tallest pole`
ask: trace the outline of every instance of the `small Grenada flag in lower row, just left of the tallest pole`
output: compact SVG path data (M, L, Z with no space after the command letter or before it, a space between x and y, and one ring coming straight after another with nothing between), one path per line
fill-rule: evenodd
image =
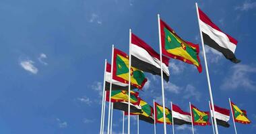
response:
M203 112L199 111L195 106L191 105L191 115L193 119L193 125L210 125L209 122L209 117L210 113L209 112Z

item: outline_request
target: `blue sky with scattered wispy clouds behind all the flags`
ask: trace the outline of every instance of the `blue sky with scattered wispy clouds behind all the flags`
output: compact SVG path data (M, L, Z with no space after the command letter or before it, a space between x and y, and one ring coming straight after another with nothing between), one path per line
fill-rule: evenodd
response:
M238 133L256 130L256 1L197 1L220 28L238 40L232 64L205 47L214 103L229 108L228 97L247 110L253 123L236 123ZM1 0L0 1L0 133L98 133L104 59L110 62L111 44L128 52L129 28L157 52L157 13L183 39L200 43L195 1L170 0ZM201 44L200 44L201 47ZM207 111L209 92L203 72L170 60L166 104L189 111L189 101ZM148 76L141 98L161 103L160 77ZM114 111L113 131L121 132L121 112ZM220 133L234 133L219 127ZM127 123L125 124L127 126ZM136 122L131 120L132 133ZM163 126L157 125L162 133ZM175 127L190 133L189 126ZM140 121L141 133L154 127ZM168 133L171 127L168 126ZM212 126L195 127L212 133Z

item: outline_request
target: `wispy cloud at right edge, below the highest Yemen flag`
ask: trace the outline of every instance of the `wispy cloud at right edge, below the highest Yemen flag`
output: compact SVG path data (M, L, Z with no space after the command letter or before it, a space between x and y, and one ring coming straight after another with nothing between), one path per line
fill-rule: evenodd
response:
M234 90L238 87L246 90L256 90L255 80L251 80L250 74L256 73L256 68L245 64L236 64L231 67L230 75L224 78L220 88L224 90Z

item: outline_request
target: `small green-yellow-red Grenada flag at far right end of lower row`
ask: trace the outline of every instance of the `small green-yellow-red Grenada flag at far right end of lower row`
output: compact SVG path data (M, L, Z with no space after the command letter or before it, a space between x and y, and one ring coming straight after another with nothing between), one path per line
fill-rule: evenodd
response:
M236 123L249 124L251 121L247 117L247 112L245 110L239 109L234 103L231 102L232 113L234 115L234 121Z

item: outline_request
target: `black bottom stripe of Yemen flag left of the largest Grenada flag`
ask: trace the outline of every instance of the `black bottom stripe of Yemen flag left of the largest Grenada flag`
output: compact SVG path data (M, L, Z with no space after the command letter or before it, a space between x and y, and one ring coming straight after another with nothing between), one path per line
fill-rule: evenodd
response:
M135 56L131 56L131 66L138 68L139 70L142 70L144 72L149 72L154 75L161 76L161 69L157 68L156 66L149 64L148 62L144 62L143 60L139 60L139 58ZM164 80L166 82L169 81L169 76L166 75L166 73L163 71Z

